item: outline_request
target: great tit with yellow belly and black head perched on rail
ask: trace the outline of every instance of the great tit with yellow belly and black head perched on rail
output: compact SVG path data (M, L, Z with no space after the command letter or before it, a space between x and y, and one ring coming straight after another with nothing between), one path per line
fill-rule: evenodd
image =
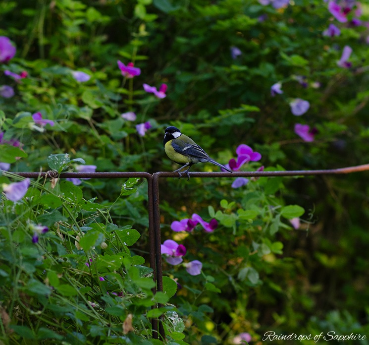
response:
M174 173L179 173L180 177L182 177L181 173L185 173L187 177L190 178L188 172L194 164L199 162L210 162L232 173L230 169L211 159L199 145L197 145L187 135L182 134L181 131L174 126L170 126L165 129L163 144L166 155L173 162L182 165L181 168L174 171ZM186 171L180 172L186 167L188 167Z

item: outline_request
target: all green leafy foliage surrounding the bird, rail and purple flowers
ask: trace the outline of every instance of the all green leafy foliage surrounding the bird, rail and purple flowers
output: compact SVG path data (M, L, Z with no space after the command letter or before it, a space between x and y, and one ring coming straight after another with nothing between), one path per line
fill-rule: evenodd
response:
M364 1L362 12L365 23ZM250 145L262 159L246 171L368 163L368 30L352 23L353 11L348 18L339 23L320 0L279 9L258 0L2 1L0 36L17 53L0 65L0 87L15 92L0 97L0 163L11 172L170 171L167 125L222 164ZM329 23L339 36L322 35ZM350 68L337 65L346 45ZM232 47L241 55L232 58ZM117 60L141 74L122 76ZM77 81L75 71L90 79ZM272 97L277 82L283 93ZM143 83L166 83L167 96ZM310 102L299 117L289 105L296 98ZM38 112L54 125L37 123ZM313 142L294 133L296 123L316 127ZM19 180L1 171L0 187ZM160 182L162 238L187 253L175 266L163 257L156 293L141 179L39 178L17 202L3 194L0 340L162 344L151 317L162 318L166 344L232 344L245 332L258 343L270 330L368 334L365 173L263 177L239 188L231 177ZM170 229L194 213L218 227ZM200 275L187 272L193 260L203 263Z

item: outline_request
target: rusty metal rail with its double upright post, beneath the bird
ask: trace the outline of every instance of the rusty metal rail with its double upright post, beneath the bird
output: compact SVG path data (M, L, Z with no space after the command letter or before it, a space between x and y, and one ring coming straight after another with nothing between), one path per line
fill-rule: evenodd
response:
M271 172L192 172L190 177L275 177L275 176L314 176L357 173L369 170L369 164L355 167L346 167L327 170L293 170L293 171L271 171ZM6 173L5 173L6 174ZM129 178L141 177L148 181L148 204L149 204L149 240L150 240L150 266L153 269L155 288L153 292L162 291L162 268L161 268L161 233L160 233L160 209L159 209L159 178L179 177L178 173L158 172L113 172L113 173L61 173L57 176L55 172L40 173L15 173L29 178ZM187 176L186 176L187 177ZM155 306L155 308L160 305ZM160 319L152 319L153 338L165 338L164 328Z

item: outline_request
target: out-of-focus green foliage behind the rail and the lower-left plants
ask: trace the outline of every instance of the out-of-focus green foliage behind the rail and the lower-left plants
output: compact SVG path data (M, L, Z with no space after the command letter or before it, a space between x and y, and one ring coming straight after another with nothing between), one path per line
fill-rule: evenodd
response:
M17 54L0 69L28 72L20 81L0 76L0 84L15 90L13 97L0 98L10 119L2 130L28 153L10 170L48 170L47 157L58 153L82 158L97 171L174 170L162 149L168 125L222 164L238 145L250 145L262 160L247 170L368 163L369 6L361 3L362 23L354 25L352 14L339 23L327 5L322 0L291 0L281 8L257 0L1 2L0 35L14 42ZM322 34L330 23L340 27L339 36ZM337 61L347 45L353 49L351 66L343 68ZM233 47L240 51L237 57ZM117 60L134 62L141 75L123 78ZM91 79L78 82L72 70ZM277 82L283 93L272 97ZM166 98L146 94L143 83L167 84ZM301 117L291 113L289 103L296 98L310 103ZM135 122L120 116L128 111L137 114ZM32 130L14 121L22 112L41 112L55 125ZM140 136L135 125L145 121L152 128ZM296 135L296 123L316 128L313 142ZM368 173L260 178L237 189L231 182L160 183L162 237L181 241L188 260L204 264L205 274L193 277L164 263L182 287L170 302L184 320L184 341L231 344L247 332L261 344L266 331L369 335ZM147 258L146 185L117 200L116 180L91 179L82 188L86 200L97 197L111 207L112 223L141 233L131 253ZM306 210L299 229L280 220L278 208L284 205ZM173 235L175 220L192 213L208 221L214 217L209 206L220 211L214 233ZM232 216L250 209L257 212L251 219Z

